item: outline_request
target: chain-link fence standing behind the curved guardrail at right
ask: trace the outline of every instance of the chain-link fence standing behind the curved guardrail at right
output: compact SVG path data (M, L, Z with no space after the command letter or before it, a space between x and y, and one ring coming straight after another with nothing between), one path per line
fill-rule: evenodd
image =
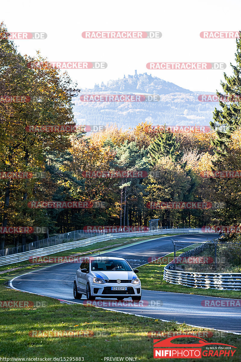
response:
M218 239L195 244L177 256L185 242L173 240L174 257L169 269L194 272L241 273L241 243L221 243Z

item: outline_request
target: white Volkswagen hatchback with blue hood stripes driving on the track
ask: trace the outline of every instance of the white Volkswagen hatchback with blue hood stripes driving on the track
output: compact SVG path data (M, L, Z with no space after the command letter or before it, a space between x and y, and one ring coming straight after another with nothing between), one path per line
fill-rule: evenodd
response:
M74 278L74 298L81 299L82 294L88 300L116 298L123 300L141 300L141 282L123 258L86 257L76 271Z

